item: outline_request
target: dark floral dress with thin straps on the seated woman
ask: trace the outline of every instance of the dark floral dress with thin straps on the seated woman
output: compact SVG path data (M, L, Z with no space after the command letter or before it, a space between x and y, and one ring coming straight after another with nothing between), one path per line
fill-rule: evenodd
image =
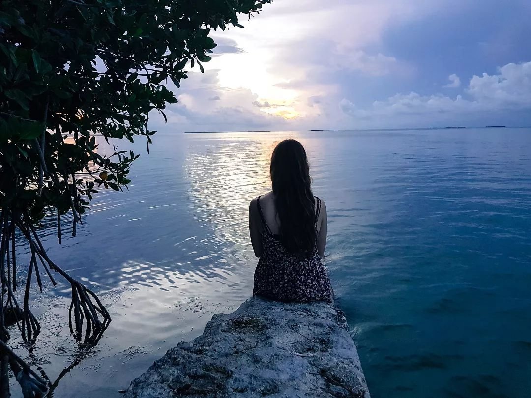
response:
M318 197L316 199L315 223L321 210L321 200ZM308 257L301 258L288 253L265 221L260 196L256 204L263 228L262 255L254 272L253 295L286 302L332 302L332 287L318 253L317 241Z

